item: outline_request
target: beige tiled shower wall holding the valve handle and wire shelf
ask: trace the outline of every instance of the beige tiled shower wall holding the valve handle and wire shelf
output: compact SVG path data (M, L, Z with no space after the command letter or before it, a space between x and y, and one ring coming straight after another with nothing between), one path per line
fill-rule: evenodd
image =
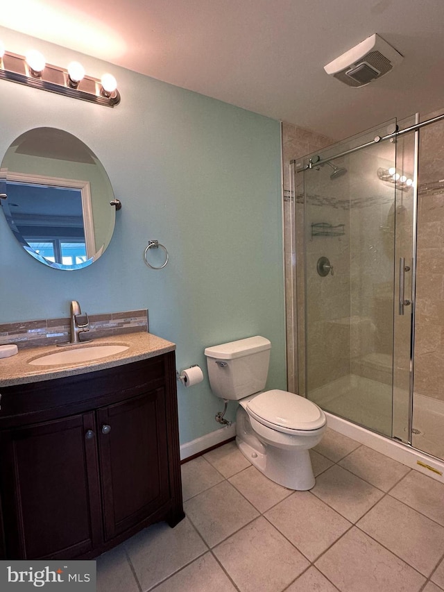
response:
M341 163L342 164L342 163ZM308 387L313 389L350 375L350 203L348 175L330 180L332 169L325 165L304 175L305 191L300 194L296 186L296 233L305 234L305 280L300 273L303 256L297 253L298 287L306 287L305 319L307 323L306 355ZM298 175L300 177L301 175ZM302 187L301 187L302 189ZM345 196L345 199L344 199ZM306 202L305 204L303 202ZM300 217L305 216L305 228ZM331 225L332 229L313 224ZM298 237L299 238L299 237ZM297 239L296 244L300 246ZM333 275L321 277L317 271L320 257L328 257ZM298 306L302 307L298 294ZM298 344L302 339L298 336ZM300 368L304 367L299 353ZM300 376L299 388L302 389Z

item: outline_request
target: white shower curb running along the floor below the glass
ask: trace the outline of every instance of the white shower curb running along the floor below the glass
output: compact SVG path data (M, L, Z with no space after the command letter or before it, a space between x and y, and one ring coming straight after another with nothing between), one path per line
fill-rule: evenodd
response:
M325 412L325 415L327 416L328 426L332 430L357 440L361 444L368 446L368 448L377 450L378 453L402 462L402 464L414 468L415 471L420 471L420 473L444 483L444 462L422 453L420 450L411 448L407 444L370 432L365 428L361 428L360 425L350 423L350 421L331 413Z

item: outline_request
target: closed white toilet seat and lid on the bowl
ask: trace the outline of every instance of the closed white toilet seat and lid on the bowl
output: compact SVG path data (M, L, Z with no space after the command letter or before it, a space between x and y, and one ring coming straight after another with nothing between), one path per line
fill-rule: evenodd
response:
M312 401L288 391L273 389L248 400L246 412L263 425L287 434L312 432L323 428L323 410Z

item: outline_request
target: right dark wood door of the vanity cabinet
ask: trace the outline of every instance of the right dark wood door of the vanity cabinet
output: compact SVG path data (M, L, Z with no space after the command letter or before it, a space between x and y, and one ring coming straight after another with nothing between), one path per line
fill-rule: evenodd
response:
M105 540L170 498L163 387L97 411Z

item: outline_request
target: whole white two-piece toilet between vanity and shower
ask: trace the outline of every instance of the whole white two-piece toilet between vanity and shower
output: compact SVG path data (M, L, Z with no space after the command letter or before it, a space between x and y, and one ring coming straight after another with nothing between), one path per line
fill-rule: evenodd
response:
M216 397L239 401L236 443L261 473L289 489L306 491L315 479L309 449L327 427L323 410L299 395L264 391L271 342L265 337L205 348Z

